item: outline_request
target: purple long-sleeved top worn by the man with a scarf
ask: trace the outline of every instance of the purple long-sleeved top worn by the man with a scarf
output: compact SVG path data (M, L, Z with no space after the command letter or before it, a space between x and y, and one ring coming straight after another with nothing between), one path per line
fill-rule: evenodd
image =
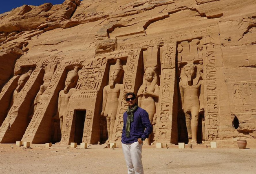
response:
M131 122L130 137L126 137L126 122L127 112L124 113L124 126L122 133L122 143L129 144L138 141L138 138L148 138L148 135L152 132L152 125L150 123L148 113L142 108L138 108L133 115L133 122ZM145 129L146 128L146 129ZM145 130L145 131L144 131Z

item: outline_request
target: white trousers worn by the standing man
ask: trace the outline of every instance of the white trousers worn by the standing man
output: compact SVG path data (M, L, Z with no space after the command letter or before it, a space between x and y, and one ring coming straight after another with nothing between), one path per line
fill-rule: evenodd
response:
M139 144L138 141L130 144L122 143L122 150L128 168L128 174L143 174L141 161L142 144Z

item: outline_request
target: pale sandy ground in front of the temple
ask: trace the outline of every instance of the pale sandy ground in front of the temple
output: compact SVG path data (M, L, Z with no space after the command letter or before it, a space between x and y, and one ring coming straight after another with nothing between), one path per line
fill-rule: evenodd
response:
M78 146L79 147L79 146ZM1 174L125 174L121 148L88 149L0 144ZM145 174L256 174L256 148L146 148L142 150Z

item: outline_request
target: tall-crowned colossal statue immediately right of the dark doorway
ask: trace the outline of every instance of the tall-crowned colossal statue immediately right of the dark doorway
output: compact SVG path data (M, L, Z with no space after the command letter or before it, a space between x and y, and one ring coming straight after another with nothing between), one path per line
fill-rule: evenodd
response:
M117 59L116 64L113 66L113 69L110 68L109 73L109 83L103 88L103 102L102 102L102 113L106 117L107 129L108 129L108 139L106 143L112 139L115 119L117 115L117 106L119 103L120 90L122 84L120 80L123 78L123 66L121 61Z

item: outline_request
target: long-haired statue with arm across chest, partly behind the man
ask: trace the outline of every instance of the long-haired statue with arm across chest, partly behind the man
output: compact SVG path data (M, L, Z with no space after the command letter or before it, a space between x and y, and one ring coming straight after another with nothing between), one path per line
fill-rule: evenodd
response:
M144 77L143 77L143 84L139 88L138 91L138 105L142 109L145 109L148 112L149 120L151 124L155 124L153 120L155 113L157 112L156 109L156 101L159 98L159 86L157 85L157 72L155 71L155 67L148 67L146 68ZM152 136L148 137L148 144L152 141ZM146 142L147 144L147 142Z

